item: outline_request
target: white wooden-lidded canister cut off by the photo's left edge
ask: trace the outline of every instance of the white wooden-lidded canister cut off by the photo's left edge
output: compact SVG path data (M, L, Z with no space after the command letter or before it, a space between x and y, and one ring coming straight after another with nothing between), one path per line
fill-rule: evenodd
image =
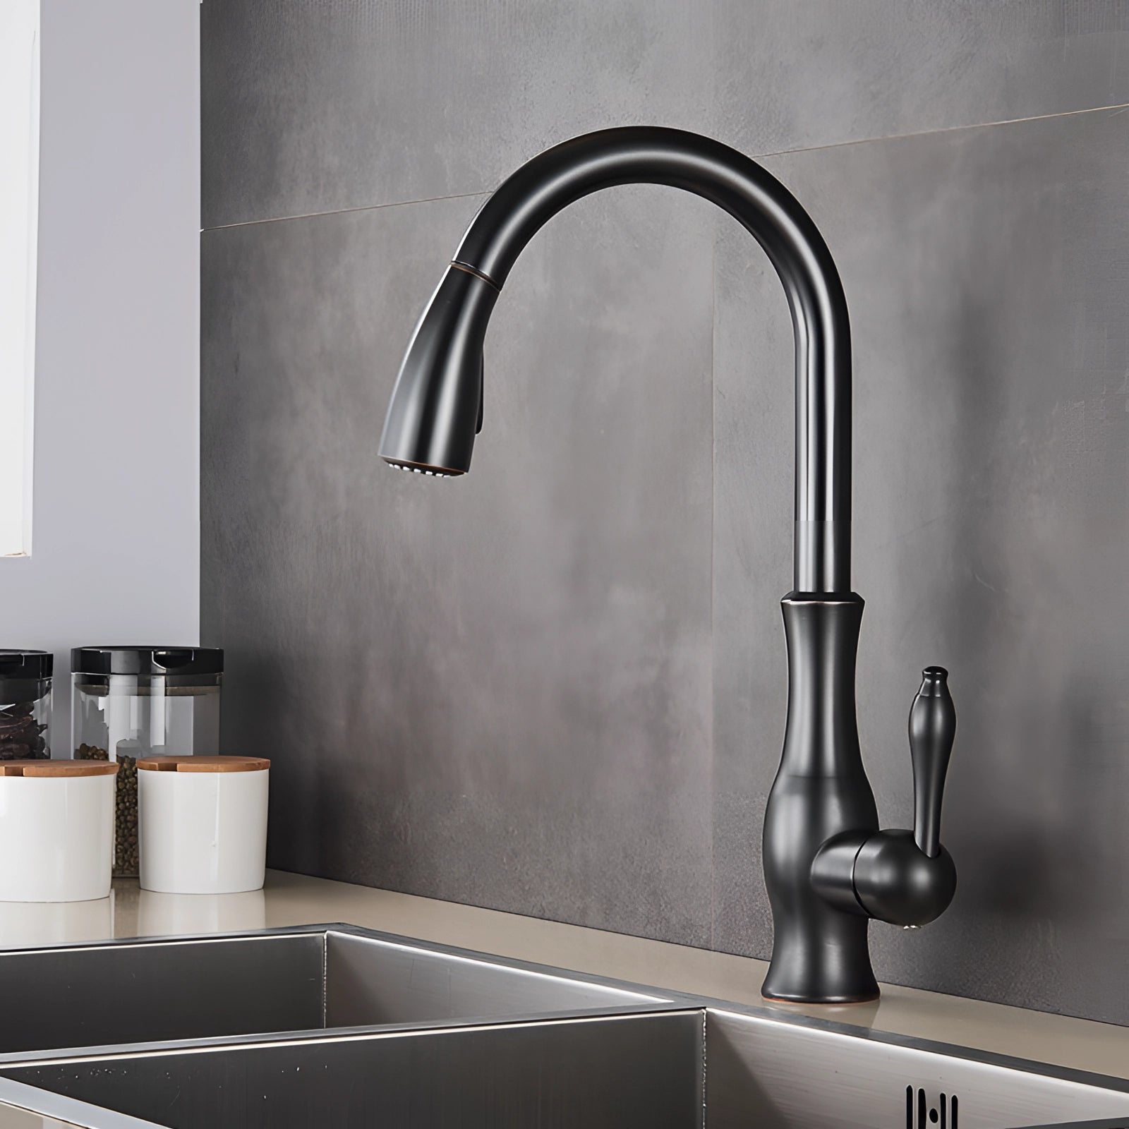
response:
M113 761L0 761L0 901L110 896Z

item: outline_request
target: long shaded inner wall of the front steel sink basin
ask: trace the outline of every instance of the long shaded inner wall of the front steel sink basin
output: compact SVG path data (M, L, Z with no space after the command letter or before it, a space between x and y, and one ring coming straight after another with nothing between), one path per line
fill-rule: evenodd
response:
M148 1123L201 1129L688 1129L700 1124L701 1042L701 1013L685 1012L99 1057L5 1074Z

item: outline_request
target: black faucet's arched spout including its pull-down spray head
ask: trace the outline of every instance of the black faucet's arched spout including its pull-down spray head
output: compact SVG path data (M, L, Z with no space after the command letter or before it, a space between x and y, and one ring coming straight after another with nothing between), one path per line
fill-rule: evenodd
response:
M793 586L850 592L850 324L839 273L811 217L779 181L697 133L645 126L589 133L534 157L490 196L417 326L380 453L440 474L469 470L482 338L517 256L562 208L639 183L712 200L760 243L780 275L796 331Z

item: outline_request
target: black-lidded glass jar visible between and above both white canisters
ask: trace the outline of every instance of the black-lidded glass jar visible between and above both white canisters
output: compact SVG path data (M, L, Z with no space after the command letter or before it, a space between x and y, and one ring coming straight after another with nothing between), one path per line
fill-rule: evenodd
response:
M217 647L76 647L71 737L80 760L117 761L114 876L138 874L139 756L215 755L224 651Z

